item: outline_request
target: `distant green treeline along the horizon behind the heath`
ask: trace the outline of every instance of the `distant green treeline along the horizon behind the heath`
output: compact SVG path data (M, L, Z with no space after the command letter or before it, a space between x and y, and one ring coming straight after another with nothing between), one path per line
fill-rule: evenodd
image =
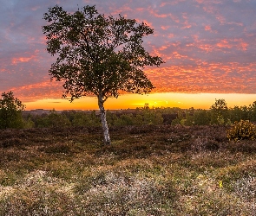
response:
M181 125L230 125L240 120L256 122L256 101L249 106L227 108L224 99L216 99L209 110L181 108L149 108L135 110L107 111L107 121L112 126L145 124ZM101 126L96 111L49 111L41 115L23 113L23 128Z

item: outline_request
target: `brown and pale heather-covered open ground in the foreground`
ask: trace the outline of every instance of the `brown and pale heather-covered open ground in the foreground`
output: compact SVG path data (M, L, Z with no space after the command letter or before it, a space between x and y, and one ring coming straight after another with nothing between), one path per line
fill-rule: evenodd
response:
M0 130L0 215L256 215L256 142L220 126Z

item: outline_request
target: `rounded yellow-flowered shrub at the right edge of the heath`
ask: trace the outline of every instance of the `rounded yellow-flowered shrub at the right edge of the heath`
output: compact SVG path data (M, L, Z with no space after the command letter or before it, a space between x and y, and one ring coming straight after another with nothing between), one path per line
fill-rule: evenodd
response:
M256 125L249 120L240 120L235 122L230 130L227 130L229 140L239 141L242 139L255 139L256 138Z

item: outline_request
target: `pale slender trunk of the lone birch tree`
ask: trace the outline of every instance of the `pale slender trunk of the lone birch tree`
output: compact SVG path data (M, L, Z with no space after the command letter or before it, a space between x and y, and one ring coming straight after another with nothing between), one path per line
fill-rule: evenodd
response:
M102 130L103 130L103 137L104 137L104 145L110 145L110 136L109 136L109 131L108 131L108 123L107 123L107 118L106 118L106 111L104 109L104 100L102 95L98 96L98 105L100 108L100 114L101 114L101 119L102 119Z

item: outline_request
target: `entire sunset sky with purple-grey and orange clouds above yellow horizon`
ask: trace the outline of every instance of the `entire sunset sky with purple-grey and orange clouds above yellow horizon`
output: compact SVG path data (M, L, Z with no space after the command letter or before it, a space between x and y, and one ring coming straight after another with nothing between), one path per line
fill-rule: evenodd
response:
M95 97L62 99L62 84L50 82L55 58L46 51L43 13L56 4L73 12L95 5L106 16L146 22L144 40L166 61L145 70L156 87L149 95L109 98L107 109L170 106L208 109L215 98L229 107L256 101L255 0L9 0L0 7L0 92L14 92L30 109L98 109Z

